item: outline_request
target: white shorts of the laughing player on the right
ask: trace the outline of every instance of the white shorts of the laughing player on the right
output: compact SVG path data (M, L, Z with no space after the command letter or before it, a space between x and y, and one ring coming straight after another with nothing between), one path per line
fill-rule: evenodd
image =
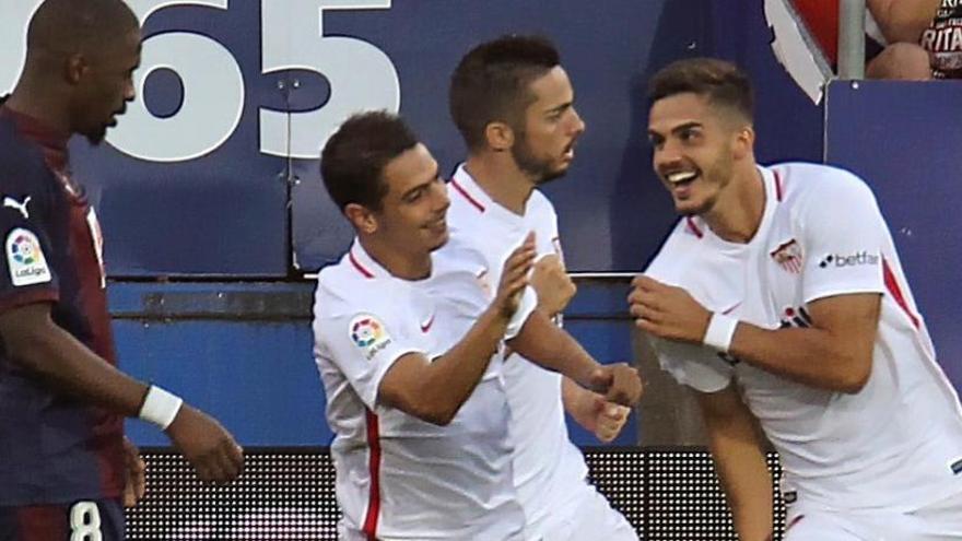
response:
M917 511L825 511L791 505L784 541L962 541L962 494Z

